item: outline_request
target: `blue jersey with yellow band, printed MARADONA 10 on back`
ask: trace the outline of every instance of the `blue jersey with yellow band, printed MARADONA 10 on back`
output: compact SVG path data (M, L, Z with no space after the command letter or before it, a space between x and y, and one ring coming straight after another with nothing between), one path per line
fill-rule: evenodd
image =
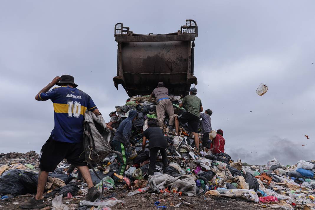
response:
M84 113L97 109L91 97L77 88L62 86L39 94L39 98L42 101L50 99L54 105L52 138L69 143L82 142Z

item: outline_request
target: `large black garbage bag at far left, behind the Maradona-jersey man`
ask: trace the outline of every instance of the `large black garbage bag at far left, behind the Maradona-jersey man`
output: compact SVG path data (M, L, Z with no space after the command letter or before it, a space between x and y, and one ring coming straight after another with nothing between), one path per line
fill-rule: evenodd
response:
M0 194L25 195L36 193L38 174L12 169L0 176Z

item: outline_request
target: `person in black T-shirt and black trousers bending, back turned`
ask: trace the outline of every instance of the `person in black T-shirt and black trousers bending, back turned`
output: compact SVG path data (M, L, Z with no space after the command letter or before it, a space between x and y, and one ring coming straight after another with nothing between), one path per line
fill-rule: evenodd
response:
M149 168L148 175L154 174L155 163L157 161L157 152L160 150L162 155L163 168L168 166L167 162L167 140L165 139L162 130L157 127L154 120L148 122L148 128L142 133L142 150L146 147L146 140L149 140Z

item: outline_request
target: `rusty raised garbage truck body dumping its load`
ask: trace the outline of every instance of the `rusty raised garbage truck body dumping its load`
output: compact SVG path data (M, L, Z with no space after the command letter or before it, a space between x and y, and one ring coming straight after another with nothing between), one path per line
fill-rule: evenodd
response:
M129 97L148 95L163 82L169 94L187 95L194 76L194 47L198 26L186 20L180 30L169 34L136 34L115 25L117 44L117 76L113 78L118 89L121 84Z

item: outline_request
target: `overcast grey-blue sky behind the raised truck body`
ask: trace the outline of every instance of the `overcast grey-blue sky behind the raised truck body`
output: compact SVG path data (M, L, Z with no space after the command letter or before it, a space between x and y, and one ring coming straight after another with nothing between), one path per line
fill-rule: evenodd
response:
M106 120L124 104L127 94L112 81L117 22L163 34L194 19L197 95L232 159L315 159L314 8L287 0L0 0L0 153L40 151L54 115L51 101L34 97L55 76L73 75ZM263 96L255 93L260 83L269 87Z

